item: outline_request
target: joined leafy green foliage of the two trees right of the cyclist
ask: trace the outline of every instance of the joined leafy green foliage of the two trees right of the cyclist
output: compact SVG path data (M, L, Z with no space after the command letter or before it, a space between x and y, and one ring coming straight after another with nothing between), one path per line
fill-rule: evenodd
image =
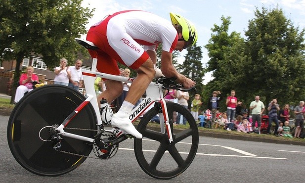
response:
M204 96L208 99L214 90L226 96L235 90L247 106L256 95L266 104L272 98L281 106L296 104L305 96L304 29L295 28L278 7L256 8L254 14L245 40L235 32L228 34L229 17L221 17L221 26L214 25L206 48L208 70L215 79Z

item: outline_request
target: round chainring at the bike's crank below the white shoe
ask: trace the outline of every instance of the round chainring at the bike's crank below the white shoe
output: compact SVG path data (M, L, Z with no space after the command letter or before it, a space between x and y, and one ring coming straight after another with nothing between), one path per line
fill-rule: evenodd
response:
M103 138L115 139L116 135L110 131L105 131L98 135L93 142L93 152L100 159L109 159L112 158L119 149L119 144L111 145L107 148L104 148L100 145L100 142Z

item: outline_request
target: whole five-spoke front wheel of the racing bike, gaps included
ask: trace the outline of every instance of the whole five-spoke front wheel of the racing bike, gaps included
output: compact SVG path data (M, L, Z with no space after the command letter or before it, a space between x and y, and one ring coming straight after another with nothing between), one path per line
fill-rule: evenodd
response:
M180 113L187 121L185 126L171 123L174 142L169 142L166 130L160 125L150 123L162 111L160 105L155 105L141 119L137 130L143 138L134 140L137 162L156 179L171 179L184 172L192 163L199 143L197 124L191 113L176 103L167 103L167 109L170 120Z

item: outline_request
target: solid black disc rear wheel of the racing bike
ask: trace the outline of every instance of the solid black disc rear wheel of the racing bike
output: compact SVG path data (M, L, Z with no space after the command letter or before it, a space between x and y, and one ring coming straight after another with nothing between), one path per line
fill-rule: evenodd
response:
M53 149L54 142L43 141L39 131L45 126L60 125L86 97L69 87L49 85L27 93L14 107L7 126L7 141L16 161L26 170L40 176L59 176L79 165L86 157ZM97 120L92 105L87 104L67 125L70 128L96 130ZM46 128L48 129L48 128ZM65 132L93 138L96 131ZM77 132L77 133L76 133ZM50 137L48 130L41 135ZM92 145L82 140L63 137L61 150L88 156Z

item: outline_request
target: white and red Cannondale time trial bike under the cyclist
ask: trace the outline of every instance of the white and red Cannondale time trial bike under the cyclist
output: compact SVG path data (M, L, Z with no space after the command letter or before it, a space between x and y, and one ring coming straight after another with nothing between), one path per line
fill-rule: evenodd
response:
M86 40L76 41L87 49L97 49ZM112 158L119 143L130 137L118 128L107 127L112 113L109 108L99 107L102 104L97 102L94 80L101 77L132 84L134 79L96 72L96 64L97 59L93 58L91 71L82 70L87 98L65 86L47 85L27 93L14 107L7 140L14 158L26 170L41 176L63 175L88 157ZM199 142L191 113L179 104L165 102L163 90L169 89L193 90L168 78L153 80L130 116L135 122L147 111L136 127L143 138L134 139L134 153L142 170L156 179L171 179L184 172L192 163ZM185 117L188 125L177 128L174 113ZM151 125L156 115L160 125ZM94 154L90 155L92 150Z

